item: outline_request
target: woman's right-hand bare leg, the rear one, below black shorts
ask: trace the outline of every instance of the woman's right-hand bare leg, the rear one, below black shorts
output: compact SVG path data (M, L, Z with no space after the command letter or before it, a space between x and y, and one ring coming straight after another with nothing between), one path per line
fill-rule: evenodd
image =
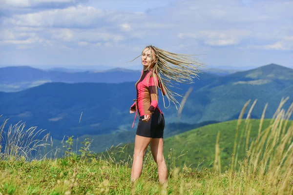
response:
M163 138L152 138L150 141L151 154L158 165L160 183L167 182L167 165L163 154Z

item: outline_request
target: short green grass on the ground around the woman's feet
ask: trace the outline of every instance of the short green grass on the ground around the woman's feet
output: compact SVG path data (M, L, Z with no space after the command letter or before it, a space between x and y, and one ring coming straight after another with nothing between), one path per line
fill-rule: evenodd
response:
M169 165L169 164L168 164ZM251 178L245 187L244 173L237 174L235 186L230 186L229 172L221 175L212 170L197 172L189 168L171 169L168 172L168 182L161 185L158 182L156 164L148 154L145 158L143 173L140 179L130 182L131 167L129 163L117 164L102 157L90 160L74 160L74 157L57 160L42 160L27 162L24 159L13 158L0 161L0 193L2 195L224 195L227 192L237 194L237 191L250 194L268 194L266 187L268 176L262 180ZM243 188L243 189L242 189Z

